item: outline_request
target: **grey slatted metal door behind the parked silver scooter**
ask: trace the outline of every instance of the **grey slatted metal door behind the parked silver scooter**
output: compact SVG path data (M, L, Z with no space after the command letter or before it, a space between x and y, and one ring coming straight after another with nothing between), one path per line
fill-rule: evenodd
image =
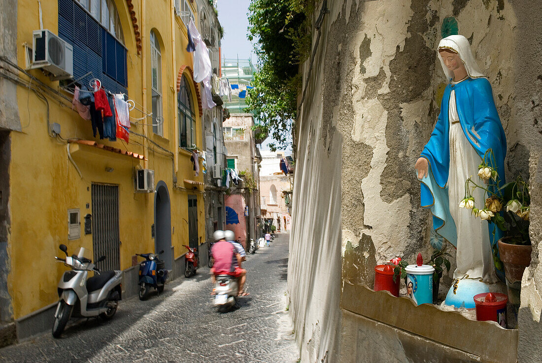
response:
M92 244L101 271L120 270L119 187L92 184Z

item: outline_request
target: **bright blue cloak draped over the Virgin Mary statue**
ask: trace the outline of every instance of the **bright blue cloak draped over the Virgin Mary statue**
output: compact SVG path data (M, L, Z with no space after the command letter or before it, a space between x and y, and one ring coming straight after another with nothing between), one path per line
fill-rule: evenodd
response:
M429 175L421 180L421 205L431 210L435 232L457 247L456 226L450 215L447 188L450 164L448 104L452 90L455 90L461 128L469 143L480 158L489 148L493 150L494 162L486 158L486 163L499 174L499 185L490 179L489 188L504 184L506 136L495 107L491 84L485 77L469 78L446 86L435 130L421 153L429 162ZM492 222L488 223L488 228L494 245L501 237L501 231Z

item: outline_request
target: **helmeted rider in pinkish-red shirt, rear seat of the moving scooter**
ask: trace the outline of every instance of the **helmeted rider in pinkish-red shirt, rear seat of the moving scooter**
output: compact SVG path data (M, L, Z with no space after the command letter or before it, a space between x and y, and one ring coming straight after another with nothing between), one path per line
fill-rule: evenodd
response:
M234 245L224 239L224 231L215 231L212 237L215 240L215 244L212 245L211 249L212 258L214 259L214 265L211 268L212 285L215 285L215 276L217 275L241 277L242 271L239 267L241 256L235 252ZM211 294L215 294L214 289Z

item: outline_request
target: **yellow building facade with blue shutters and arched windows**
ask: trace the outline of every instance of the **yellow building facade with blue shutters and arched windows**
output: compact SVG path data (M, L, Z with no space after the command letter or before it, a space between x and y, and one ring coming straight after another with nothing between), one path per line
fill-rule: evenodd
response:
M126 272L126 296L137 287L135 253L165 250L177 277L183 245L205 242L203 175L196 176L192 157L203 142L201 100L186 51L194 7L184 0L16 2L16 64L2 80L16 85L20 128L0 128L7 171L0 183L7 206L0 213L7 225L0 320L25 330L57 301L67 269L54 260L61 243L69 253L85 247L92 259L106 254L105 266ZM38 51L30 49L33 31L40 29L73 46L72 79L30 69ZM76 79L83 70L92 73ZM91 121L72 109L73 85L85 90L92 79L132 100L128 142L94 136ZM147 169L155 192L138 193L137 174Z

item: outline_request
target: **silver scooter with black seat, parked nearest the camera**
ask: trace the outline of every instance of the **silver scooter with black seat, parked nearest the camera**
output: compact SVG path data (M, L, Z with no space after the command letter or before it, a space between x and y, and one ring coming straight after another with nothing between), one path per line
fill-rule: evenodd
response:
M66 258L55 257L59 262L72 268L64 272L59 281L59 303L53 322L53 336L60 337L70 317L101 317L109 320L117 312L121 299L120 285L122 271L100 272L91 260L85 258L85 249L81 247L79 254L68 256L66 245L60 245L60 250ZM96 263L105 260L102 256ZM94 271L95 276L87 279L88 271Z

